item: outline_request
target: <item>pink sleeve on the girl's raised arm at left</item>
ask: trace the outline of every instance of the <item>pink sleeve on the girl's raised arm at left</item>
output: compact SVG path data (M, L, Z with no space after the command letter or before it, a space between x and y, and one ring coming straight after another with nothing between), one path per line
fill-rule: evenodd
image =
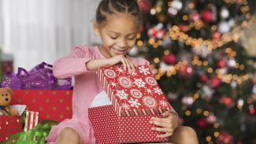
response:
M91 53L87 46L76 46L67 57L62 57L54 63L54 76L65 79L87 72L85 64L91 60Z

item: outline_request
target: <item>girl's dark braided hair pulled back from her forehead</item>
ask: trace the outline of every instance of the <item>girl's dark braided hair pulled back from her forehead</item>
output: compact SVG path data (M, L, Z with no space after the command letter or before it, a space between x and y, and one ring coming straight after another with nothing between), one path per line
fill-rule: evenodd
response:
M102 0L98 4L96 22L97 24L102 24L109 14L117 13L131 14L134 17L138 17L139 24L141 22L139 6L136 0Z

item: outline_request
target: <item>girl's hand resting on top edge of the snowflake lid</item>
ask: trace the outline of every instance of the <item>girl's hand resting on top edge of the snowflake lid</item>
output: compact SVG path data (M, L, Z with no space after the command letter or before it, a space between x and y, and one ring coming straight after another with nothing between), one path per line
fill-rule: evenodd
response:
M136 65L132 61L129 61L125 55L117 55L108 59L108 65L110 66L117 65L120 62L124 65L125 70L128 68L128 71L135 71Z

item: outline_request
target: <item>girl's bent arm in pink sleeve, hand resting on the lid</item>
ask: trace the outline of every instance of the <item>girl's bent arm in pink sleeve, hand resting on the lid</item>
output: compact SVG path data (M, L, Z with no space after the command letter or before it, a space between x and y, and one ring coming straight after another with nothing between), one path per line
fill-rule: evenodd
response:
M65 79L81 75L87 71L95 71L102 66L116 65L121 62L124 68L135 70L135 65L124 55L111 58L94 59L91 52L85 46L76 46L68 57L62 57L54 63L54 76Z

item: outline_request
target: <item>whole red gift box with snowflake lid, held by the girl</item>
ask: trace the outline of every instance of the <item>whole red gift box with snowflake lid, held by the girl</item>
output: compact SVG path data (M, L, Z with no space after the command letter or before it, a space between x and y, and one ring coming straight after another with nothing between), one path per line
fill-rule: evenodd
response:
M154 79L150 68L141 65L135 72L115 65L98 70L99 79L112 105L89 109L97 143L167 142L152 131L152 117L174 109Z

